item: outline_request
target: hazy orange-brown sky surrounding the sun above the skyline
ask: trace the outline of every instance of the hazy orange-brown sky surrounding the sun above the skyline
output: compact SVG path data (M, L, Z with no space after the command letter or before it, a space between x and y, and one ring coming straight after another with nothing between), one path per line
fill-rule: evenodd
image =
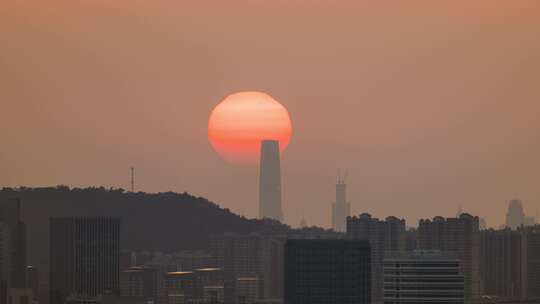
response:
M0 3L0 185L187 191L257 214L256 167L223 161L212 108L290 111L285 219L540 212L540 1Z

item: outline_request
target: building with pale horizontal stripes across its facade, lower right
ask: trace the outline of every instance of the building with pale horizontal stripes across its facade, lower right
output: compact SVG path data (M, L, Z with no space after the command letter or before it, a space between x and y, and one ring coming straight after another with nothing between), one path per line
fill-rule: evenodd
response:
M438 250L394 253L384 260L385 304L463 304L464 284L459 260Z

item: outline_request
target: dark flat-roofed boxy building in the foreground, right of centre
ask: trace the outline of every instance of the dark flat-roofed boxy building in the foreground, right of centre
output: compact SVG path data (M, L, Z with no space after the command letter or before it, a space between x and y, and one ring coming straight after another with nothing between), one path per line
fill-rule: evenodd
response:
M287 240L285 304L371 303L369 242Z

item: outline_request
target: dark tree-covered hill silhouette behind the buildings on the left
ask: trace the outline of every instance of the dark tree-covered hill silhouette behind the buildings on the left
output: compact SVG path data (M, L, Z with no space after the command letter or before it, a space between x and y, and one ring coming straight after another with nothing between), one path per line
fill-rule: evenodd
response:
M21 200L27 225L28 261L48 264L49 218L55 216L117 216L121 218L121 248L174 252L206 249L212 235L224 232L282 231L271 220L247 219L188 193L131 193L122 189L4 188L0 201Z

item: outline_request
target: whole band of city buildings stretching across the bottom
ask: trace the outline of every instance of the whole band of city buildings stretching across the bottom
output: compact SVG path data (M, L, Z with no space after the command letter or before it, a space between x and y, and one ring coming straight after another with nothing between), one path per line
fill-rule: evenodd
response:
M274 177L270 188L279 184ZM279 202L276 193L271 196ZM520 201L510 202L507 224L498 230L481 229L479 217L461 211L407 228L404 219L394 216L349 216L345 193L339 180L334 230L285 229L273 221L280 210L274 204L262 214L272 214L266 231L224 231L204 250L175 253L123 249L117 217L52 217L48 269L26 262L21 202L1 201L0 303L476 304L540 299L540 225L528 225Z

